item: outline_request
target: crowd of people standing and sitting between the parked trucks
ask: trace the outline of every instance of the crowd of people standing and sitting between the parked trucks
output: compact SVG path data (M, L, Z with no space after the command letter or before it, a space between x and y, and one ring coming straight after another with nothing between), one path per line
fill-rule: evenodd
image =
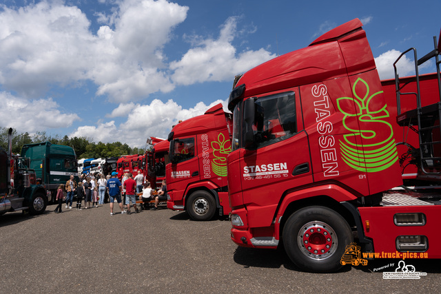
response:
M158 209L159 202L167 201L167 185L163 180L162 187L154 196L154 189L150 182L146 182L141 171L133 178L132 173L124 174L121 181L117 178L115 171L112 174L104 176L97 174L97 176L89 176L82 174L79 182L74 180L74 176L70 176L65 184L59 185L57 189L56 200L58 203L55 213L60 213L63 206L63 199L65 199L65 208L72 209L74 196L76 195L76 209L82 210L81 204L84 202L84 209L92 207L99 207L104 204L106 193L109 196L110 215L114 213L114 202L117 202L121 213L131 214L130 207L134 208L134 213L138 213L139 209L136 206L136 198L142 200L141 209L150 209L150 201L154 199L154 207L152 210ZM98 180L96 179L98 178ZM123 202L125 206L123 206ZM132 203L132 204L130 204ZM125 210L127 209L127 210Z

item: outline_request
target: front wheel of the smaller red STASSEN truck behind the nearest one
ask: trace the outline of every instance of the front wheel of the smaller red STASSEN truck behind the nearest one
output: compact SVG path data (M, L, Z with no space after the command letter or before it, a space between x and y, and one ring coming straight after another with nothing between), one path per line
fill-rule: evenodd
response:
M192 220L211 220L216 212L216 202L207 191L196 191L187 200L187 212Z

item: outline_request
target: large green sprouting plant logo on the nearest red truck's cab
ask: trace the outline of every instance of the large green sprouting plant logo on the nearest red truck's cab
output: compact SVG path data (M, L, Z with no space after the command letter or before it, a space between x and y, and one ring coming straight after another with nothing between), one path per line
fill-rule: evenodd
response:
M358 171L375 172L387 169L398 160L392 126L382 118L388 118L387 105L382 101L382 91L371 94L369 85L358 78L352 87L353 96L337 99L343 126L351 132L340 140L342 160ZM355 109L354 106L355 105ZM358 118L360 129L349 126L349 118ZM376 130L382 132L376 132ZM357 143L358 142L358 143ZM360 144L362 142L362 144Z

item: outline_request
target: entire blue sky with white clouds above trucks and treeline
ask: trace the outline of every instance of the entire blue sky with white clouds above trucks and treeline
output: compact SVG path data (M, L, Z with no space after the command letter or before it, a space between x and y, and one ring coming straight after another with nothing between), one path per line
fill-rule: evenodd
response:
M224 103L236 74L364 24L380 78L433 49L441 1L13 1L0 4L0 127L142 147ZM433 72L427 65L423 72ZM404 60L402 76L411 74Z

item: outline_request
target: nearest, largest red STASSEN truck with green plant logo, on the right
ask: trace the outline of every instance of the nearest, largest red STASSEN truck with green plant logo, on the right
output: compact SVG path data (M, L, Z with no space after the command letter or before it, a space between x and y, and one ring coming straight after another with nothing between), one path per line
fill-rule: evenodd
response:
M440 85L436 42L431 56ZM440 194L385 192L402 185L396 123L358 19L249 70L233 89L227 162L236 244L283 244L294 264L314 272L340 269L354 237L365 253L441 258ZM434 105L420 107L426 98L418 95L418 111L398 107L397 122L419 124L413 160L439 179L437 92Z

